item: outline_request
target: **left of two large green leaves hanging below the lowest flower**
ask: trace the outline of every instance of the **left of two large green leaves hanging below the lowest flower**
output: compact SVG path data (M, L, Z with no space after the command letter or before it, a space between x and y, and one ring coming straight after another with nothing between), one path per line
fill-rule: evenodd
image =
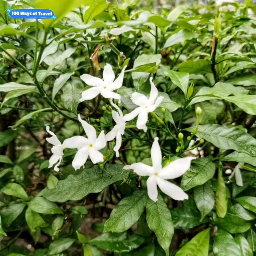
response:
M112 210L109 219L104 224L104 232L123 232L128 230L146 208L146 190L136 190L130 196L123 198Z

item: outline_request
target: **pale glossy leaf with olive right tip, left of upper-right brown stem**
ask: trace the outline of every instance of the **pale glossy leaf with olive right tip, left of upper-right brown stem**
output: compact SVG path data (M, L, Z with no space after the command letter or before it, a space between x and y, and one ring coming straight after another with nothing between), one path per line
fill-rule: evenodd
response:
M163 48L170 47L174 44L183 44L186 40L191 40L197 38L198 34L196 32L191 32L188 30L175 31L165 42Z

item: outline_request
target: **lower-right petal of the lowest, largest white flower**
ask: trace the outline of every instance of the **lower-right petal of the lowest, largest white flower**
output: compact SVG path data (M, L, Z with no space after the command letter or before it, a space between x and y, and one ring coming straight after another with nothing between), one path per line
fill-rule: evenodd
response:
M158 187L164 194L170 196L174 200L185 200L188 199L188 195L178 186L168 182L167 180L162 180L161 178L156 178L156 183Z

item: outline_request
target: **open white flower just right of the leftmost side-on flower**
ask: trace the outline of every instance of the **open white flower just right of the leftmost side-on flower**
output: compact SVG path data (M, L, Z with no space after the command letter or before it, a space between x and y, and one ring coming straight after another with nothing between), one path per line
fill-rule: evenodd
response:
M82 120L79 114L78 120L81 122L84 128L87 138L83 136L73 136L64 140L63 142L63 146L65 148L78 149L74 160L72 161L72 166L75 170L79 169L85 164L88 156L90 156L90 159L94 164L103 162L103 155L99 152L99 150L106 146L104 131L101 131L97 138L94 127Z

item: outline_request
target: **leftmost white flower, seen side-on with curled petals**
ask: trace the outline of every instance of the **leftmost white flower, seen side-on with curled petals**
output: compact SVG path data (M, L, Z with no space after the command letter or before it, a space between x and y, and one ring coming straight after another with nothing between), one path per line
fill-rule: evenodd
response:
M54 145L51 149L52 151L52 156L49 159L49 168L51 168L55 163L57 163L54 166L54 171L58 172L60 169L58 168L58 166L60 165L60 163L62 162L62 156L63 156L63 146L60 142L60 140L57 138L57 136L50 131L50 127L46 126L46 131L52 135L52 137L50 138L46 138L46 140Z

